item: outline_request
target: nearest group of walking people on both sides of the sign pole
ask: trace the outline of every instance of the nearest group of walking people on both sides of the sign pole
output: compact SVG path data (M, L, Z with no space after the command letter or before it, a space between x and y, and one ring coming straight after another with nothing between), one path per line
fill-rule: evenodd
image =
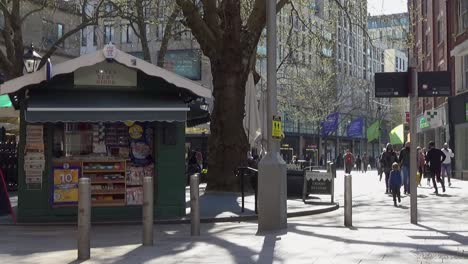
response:
M433 141L429 142L429 150L421 147L417 148L417 168L418 168L418 185L421 184L421 177L425 175L429 181L432 179L432 184L435 189L435 194L438 194L437 182L442 186L442 191L445 192L445 176L447 176L448 184L451 186L451 159L455 157L453 151L445 143L442 149L435 147ZM379 157L380 168L379 175L382 180L382 174L385 174L385 193L392 193L393 202L396 206L401 202L400 188L403 186L404 193L410 194L410 143L407 142L405 147L400 151L400 155L393 150L391 144L387 144L386 148Z

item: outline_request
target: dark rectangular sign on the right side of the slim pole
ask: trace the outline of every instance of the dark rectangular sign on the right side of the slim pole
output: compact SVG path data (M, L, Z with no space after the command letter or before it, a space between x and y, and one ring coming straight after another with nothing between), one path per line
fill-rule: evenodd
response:
M448 71L419 72L418 96L450 96L452 94L451 82L451 75Z

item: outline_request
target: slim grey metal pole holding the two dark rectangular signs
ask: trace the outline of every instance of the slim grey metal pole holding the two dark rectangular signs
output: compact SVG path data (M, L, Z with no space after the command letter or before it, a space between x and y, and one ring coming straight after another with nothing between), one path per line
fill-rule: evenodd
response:
M418 184L416 181L417 171L417 131L416 131L416 106L418 100L418 71L415 67L411 69L411 88L410 96L410 192L411 192L411 223L418 223Z

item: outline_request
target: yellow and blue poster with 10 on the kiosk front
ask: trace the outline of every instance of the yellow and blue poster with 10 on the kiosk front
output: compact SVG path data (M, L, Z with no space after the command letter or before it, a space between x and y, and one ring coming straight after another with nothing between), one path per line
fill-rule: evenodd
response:
M54 194L53 204L78 203L78 177L79 168L54 168Z

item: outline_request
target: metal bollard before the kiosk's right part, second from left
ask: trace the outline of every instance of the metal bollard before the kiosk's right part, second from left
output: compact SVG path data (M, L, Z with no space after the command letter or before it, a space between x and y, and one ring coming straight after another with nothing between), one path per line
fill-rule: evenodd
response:
M143 178L143 246L153 245L153 177Z

